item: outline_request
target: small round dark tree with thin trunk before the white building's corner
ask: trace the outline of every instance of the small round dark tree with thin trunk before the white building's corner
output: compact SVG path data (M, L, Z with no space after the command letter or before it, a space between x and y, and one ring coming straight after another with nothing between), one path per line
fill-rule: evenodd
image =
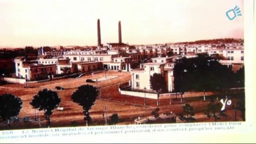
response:
M157 106L159 106L159 93L166 90L165 77L161 74L154 73L150 76L151 89L157 92Z

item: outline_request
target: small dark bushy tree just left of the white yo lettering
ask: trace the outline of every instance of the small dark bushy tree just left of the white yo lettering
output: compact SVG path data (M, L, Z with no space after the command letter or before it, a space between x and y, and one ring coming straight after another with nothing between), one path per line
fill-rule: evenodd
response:
M217 119L219 119L219 112L221 112L221 105L219 103L216 103L215 100L211 100L205 114L208 118L215 118L215 122L217 122Z

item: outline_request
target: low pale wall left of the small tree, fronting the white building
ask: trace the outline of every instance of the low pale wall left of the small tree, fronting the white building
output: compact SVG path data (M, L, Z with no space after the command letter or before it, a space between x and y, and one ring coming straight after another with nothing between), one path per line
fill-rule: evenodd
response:
M146 98L151 98L151 99L157 100L157 94L145 93L145 92L135 92L135 91L124 91L121 89L119 89L119 92L122 95L130 95L133 97L142 97L142 98L146 97Z

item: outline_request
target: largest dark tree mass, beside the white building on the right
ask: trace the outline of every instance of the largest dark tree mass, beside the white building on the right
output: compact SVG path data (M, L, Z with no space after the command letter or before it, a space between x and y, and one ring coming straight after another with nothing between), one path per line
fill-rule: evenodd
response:
M182 58L175 62L174 87L182 95L186 91L220 91L234 86L234 74L219 60L206 53L196 58ZM181 101L182 102L182 101Z

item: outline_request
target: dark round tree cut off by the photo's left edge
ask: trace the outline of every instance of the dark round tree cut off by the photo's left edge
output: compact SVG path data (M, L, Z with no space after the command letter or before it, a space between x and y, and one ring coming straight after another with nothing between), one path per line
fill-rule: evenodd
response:
M7 121L10 126L10 119L19 115L22 109L22 100L13 94L0 95L0 118Z

